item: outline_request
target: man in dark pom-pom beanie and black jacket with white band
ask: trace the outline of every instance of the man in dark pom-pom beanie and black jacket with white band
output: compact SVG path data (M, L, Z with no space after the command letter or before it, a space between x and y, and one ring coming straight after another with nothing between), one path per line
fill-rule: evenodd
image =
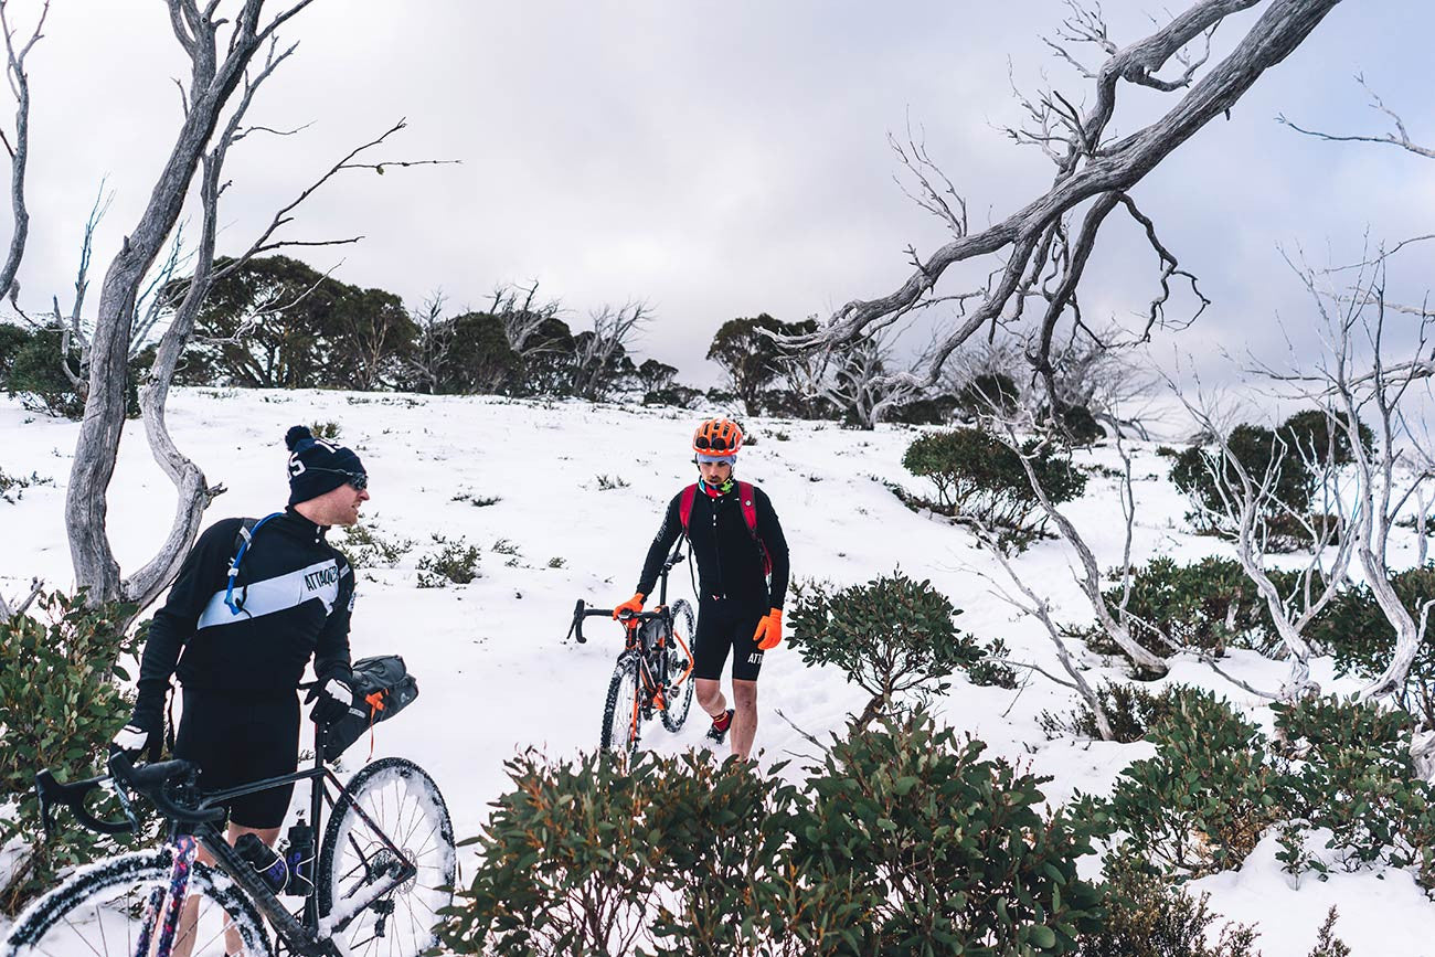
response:
M199 537L149 626L135 712L115 737L116 749L156 759L169 676L178 676L175 756L199 766L205 791L296 770L297 689L310 657L314 719L334 720L353 704L354 575L324 532L359 521L369 476L357 455L304 426L284 442L288 506L260 522L227 518ZM273 847L291 793L293 785L234 798L230 842L253 832Z

